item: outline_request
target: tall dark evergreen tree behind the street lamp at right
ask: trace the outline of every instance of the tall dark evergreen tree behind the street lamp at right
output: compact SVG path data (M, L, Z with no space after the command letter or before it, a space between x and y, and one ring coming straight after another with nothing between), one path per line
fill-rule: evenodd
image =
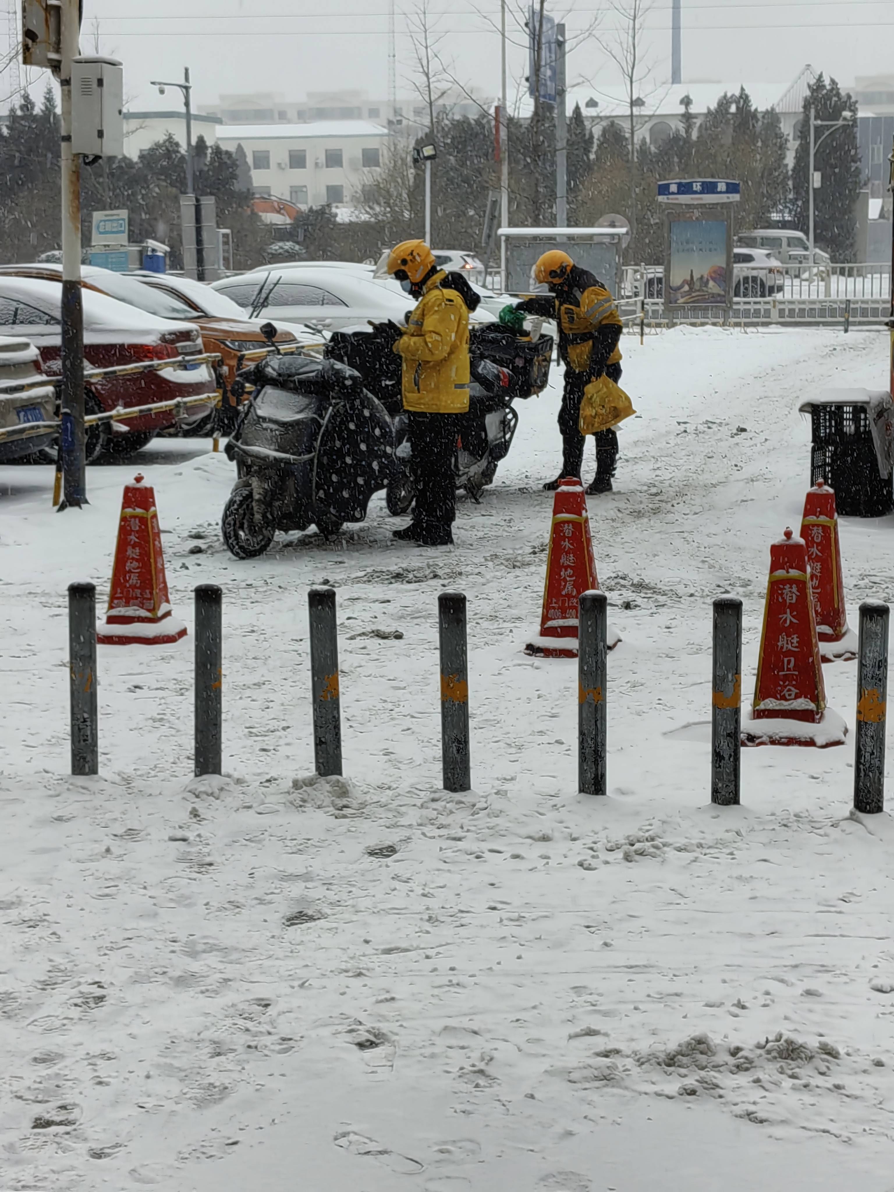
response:
M803 117L797 126L797 148L791 169L791 206L796 226L809 235L809 144L811 105L817 110L818 120L840 120L843 112L857 113L856 100L843 94L834 79L826 82L820 75L807 89ZM825 134L828 134L827 136ZM859 192L859 143L857 122L830 131L817 129L818 144L814 154L815 170L822 185L814 191L814 237L817 246L825 248L833 261L853 260L857 219L855 204Z

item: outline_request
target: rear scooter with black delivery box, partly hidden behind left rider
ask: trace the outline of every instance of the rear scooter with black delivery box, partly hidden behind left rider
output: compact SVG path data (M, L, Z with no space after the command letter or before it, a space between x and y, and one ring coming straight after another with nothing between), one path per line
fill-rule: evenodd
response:
M396 324L379 323L368 331L335 331L325 348L328 359L361 373L393 418L397 467L385 501L395 515L405 514L416 496L409 420L401 397L401 358L393 350L399 335ZM546 387L552 350L548 335L532 342L523 333L495 323L472 328L468 414L457 416L453 472L457 489L465 489L474 501L492 483L497 465L509 453L519 424L514 399L532 397Z

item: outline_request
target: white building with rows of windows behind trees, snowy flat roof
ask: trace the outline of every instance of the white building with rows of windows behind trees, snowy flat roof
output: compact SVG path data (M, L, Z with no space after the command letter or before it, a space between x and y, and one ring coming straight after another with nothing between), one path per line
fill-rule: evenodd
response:
M217 125L217 142L241 144L255 194L299 207L349 204L383 164L387 129L371 120Z

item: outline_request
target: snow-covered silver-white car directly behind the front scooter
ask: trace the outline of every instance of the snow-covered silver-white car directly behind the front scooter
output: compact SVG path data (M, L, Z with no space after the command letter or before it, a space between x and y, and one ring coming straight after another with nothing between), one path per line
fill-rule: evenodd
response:
M403 322L411 299L393 293L368 278L348 269L319 266L306 269L266 269L213 281L212 288L226 294L243 310L261 319L288 319L310 323L323 330L355 327L358 323Z

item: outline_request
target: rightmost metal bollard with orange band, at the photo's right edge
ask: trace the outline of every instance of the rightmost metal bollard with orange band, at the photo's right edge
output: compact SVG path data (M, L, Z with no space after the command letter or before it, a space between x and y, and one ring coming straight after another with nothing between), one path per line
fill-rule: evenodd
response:
M868 600L859 606L853 809L869 815L884 811L889 617L890 609L881 601Z

